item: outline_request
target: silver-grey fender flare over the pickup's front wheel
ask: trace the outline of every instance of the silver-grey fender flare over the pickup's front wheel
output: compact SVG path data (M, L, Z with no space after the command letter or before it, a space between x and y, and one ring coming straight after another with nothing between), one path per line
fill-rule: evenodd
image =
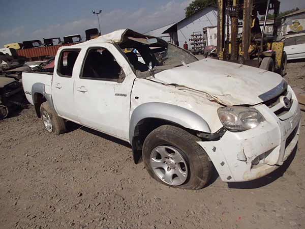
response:
M188 129L210 133L207 122L193 111L168 103L149 102L139 105L132 113L129 126L131 142L136 126L146 118L163 119Z

